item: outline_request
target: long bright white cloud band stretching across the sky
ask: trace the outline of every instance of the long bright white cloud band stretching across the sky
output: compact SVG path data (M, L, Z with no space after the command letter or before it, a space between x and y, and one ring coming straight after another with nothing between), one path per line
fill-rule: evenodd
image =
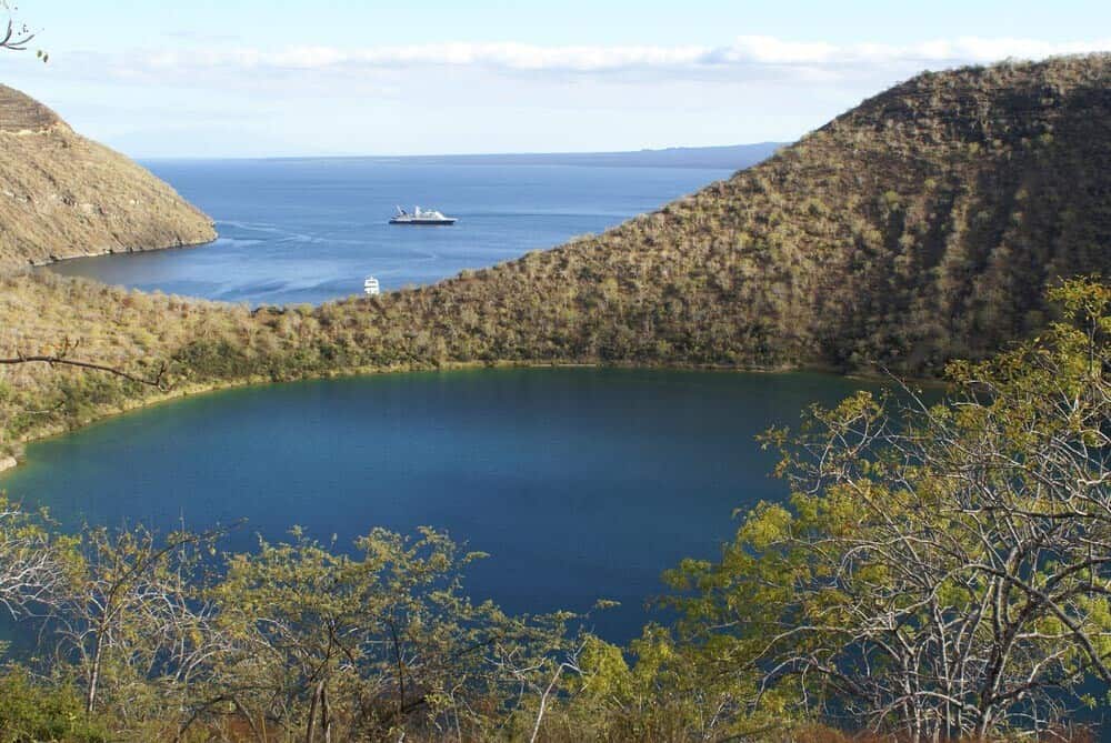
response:
M1111 38L1068 43L1035 39L962 37L912 44L834 44L747 36L710 46L564 46L518 42L434 43L342 48L298 46L281 49L216 46L199 49L63 51L49 70L24 74L62 76L102 83L114 80L198 90L270 90L294 87L313 94L393 96L427 86L450 91L484 87L498 77L534 87L594 80L638 86L665 81L719 84L813 87L848 84L867 91L887 87L923 69L944 69L1007 58L1111 50ZM0 66L4 59L0 59ZM0 69L2 71L2 69ZM48 76L49 73L49 76ZM461 76L472 76L461 81ZM11 77L11 76L9 76ZM452 87L453 86L453 87Z

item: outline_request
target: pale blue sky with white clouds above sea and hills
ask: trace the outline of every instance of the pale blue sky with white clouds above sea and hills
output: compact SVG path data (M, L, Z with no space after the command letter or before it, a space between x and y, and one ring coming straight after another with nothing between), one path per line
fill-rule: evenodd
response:
M1111 51L1105 0L9 4L0 82L138 158L791 141L922 70Z

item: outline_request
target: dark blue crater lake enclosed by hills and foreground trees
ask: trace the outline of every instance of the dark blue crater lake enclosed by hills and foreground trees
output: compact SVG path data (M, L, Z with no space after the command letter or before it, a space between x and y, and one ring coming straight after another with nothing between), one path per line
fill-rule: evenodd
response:
M613 369L483 369L244 388L129 413L28 448L0 489L62 526L294 524L337 548L372 526L447 530L488 552L466 588L511 612L589 610L640 632L660 573L712 559L735 509L782 499L753 436L860 380Z

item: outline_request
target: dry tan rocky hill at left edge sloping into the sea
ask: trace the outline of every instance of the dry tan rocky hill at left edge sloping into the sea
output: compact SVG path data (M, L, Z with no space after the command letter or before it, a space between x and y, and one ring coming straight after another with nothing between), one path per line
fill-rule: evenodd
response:
M214 237L169 185L0 86L0 271Z

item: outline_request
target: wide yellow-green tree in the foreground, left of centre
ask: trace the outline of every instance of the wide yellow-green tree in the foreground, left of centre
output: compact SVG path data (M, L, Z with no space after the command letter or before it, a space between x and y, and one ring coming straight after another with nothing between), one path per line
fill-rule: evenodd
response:
M376 529L356 550L294 531L289 543L231 555L211 592L236 647L214 683L260 737L281 729L307 743L406 731L466 741L523 717L540 724L531 694L573 652L572 615L512 618L472 603L462 570L482 555L430 529L414 539Z

